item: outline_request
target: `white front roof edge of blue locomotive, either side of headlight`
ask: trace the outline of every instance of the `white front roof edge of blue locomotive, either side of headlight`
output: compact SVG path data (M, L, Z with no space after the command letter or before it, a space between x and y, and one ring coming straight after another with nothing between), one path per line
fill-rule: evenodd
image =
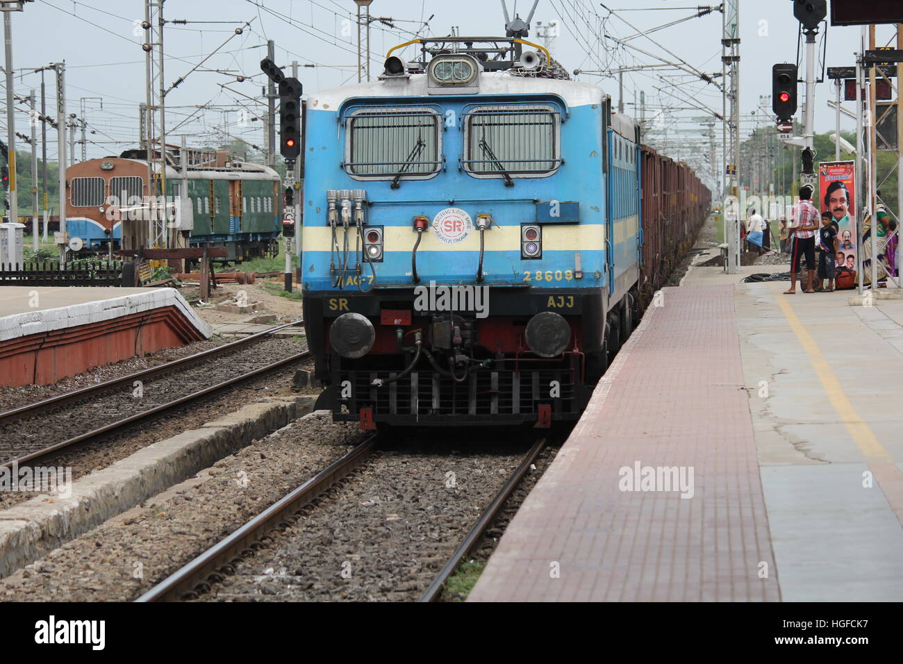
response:
M309 110L335 111L350 98L360 97L429 97L426 74L371 80L367 83L341 86L314 92L307 97ZM479 74L480 95L553 94L570 107L601 104L605 92L592 83L566 79L540 79L515 76L507 71L484 71Z

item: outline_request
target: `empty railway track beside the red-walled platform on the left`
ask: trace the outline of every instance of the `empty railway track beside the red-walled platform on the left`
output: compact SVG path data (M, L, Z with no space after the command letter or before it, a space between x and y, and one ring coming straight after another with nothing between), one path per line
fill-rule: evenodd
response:
M299 323L285 323L257 332L238 341L223 344L209 351L195 353L179 360L166 362L157 367L143 369L118 379L107 380L98 385L78 389L57 397L43 399L27 406L14 408L0 413L0 431L5 441L0 448L0 468L13 464L23 465L48 454L58 453L75 444L86 443L101 435L108 435L135 425L147 418L160 416L176 408L183 407L223 388L234 386L253 379L274 369L284 367L293 361L309 357L307 351L292 353L260 366L259 360L243 360L241 353L254 348L256 344L268 339L275 339L274 333ZM209 385L210 360L226 360L232 354L228 369L220 371L228 375ZM205 387L191 388L191 372L200 373L196 381ZM178 374L173 378L172 374ZM214 375L214 378L217 378ZM157 390L156 398L133 398L133 386L140 385L142 390L153 387L154 381L161 381L163 388ZM187 389L185 386L190 386ZM182 389L180 389L182 388ZM170 395L177 395L170 398ZM163 397L163 398L161 398ZM105 403L106 400L106 403ZM66 414L70 409L73 412ZM132 411L126 415L126 412ZM125 416L124 416L125 415ZM48 426L56 418L64 426L65 437ZM96 426L100 422L99 426ZM56 440L48 441L48 437L56 436ZM12 442L11 442L12 441Z

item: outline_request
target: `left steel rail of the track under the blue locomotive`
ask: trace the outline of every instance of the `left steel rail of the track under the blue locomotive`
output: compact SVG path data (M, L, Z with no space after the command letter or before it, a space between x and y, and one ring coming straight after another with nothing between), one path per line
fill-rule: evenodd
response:
M228 564L234 556L250 547L275 528L287 515L299 510L317 498L323 491L349 472L364 463L377 446L377 435L370 435L338 461L330 463L307 482L293 490L284 498L270 505L266 510L222 539L207 551L197 556L188 565L169 575L160 584L138 597L135 602L169 602L178 599L195 585L203 582L220 567Z

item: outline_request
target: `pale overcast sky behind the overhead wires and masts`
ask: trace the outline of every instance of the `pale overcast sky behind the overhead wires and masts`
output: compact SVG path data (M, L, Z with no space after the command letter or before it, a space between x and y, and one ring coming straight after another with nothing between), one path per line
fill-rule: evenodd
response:
M513 12L512 0L507 4ZM637 63L655 63L659 61L619 46L601 35L625 38L636 32L627 22L645 31L694 14L695 10L688 7L698 4L695 0L610 0L605 3L607 8L603 8L590 0L540 0L531 39L539 41L535 37L537 21L557 21L560 33L551 50L568 70L610 70ZM522 18L526 18L529 5L532 0L517 2L517 13ZM611 14L608 8L614 13ZM759 95L770 94L771 65L777 61L796 61L798 23L792 10L789 0L740 0L740 98L744 113L759 106ZM263 106L238 93L259 98L264 77L258 63L265 55L267 39L275 41L278 64L287 66L291 61L298 61L317 65L300 71L298 78L306 92L356 81L354 11L352 0L167 0L167 19L234 22L167 26L164 34L167 87L234 35L236 27L251 22L242 34L232 36L205 62L204 69L226 70L224 73L196 71L167 95L167 126L170 131L175 129L174 134L168 136L169 140L177 143L181 140L180 135L185 133L189 134L191 145L216 143L228 136L263 145L262 125L251 119ZM448 34L452 26L457 26L462 35L504 32L498 0L375 0L371 14L396 19L394 30L374 23L371 31L374 76L382 69L385 52L396 43L410 39L411 33L418 30L429 36ZM424 30L422 22L431 16ZM23 13L13 14L16 94L27 96L32 88L39 89L40 94L40 75L20 75L20 70L33 69L51 61L66 61L68 111L80 115L83 105L88 126L96 132L88 136L93 142L88 144L88 157L116 154L137 141L138 104L145 97L144 51L141 49L144 31L138 25L143 18L143 0L37 0L25 5ZM887 41L891 32L889 26L880 28L880 44ZM679 23L653 33L651 37L657 43L645 37L632 39L629 43L668 61L679 59L707 73L721 72L720 13ZM859 39L859 28L829 28L827 66L852 65L852 53L858 49ZM236 74L254 78L237 82ZM624 96L628 104L632 104L635 91L638 94L643 90L649 106L647 115L655 115L656 107L661 105L687 107L684 101L656 90L656 87L666 87L659 75L678 84L678 95L721 112L721 93L714 86L694 81L675 70L625 74ZM53 114L52 74L48 72L45 76L48 113ZM580 79L598 82L617 103L617 79L595 74L584 74ZM228 85L235 91L223 89L219 84ZM833 98L833 94L829 84L817 86L815 109L819 131L833 129L833 112L825 103L825 99ZM80 98L85 99L81 101ZM204 104L217 108L200 111L191 108ZM242 111L243 108L246 110ZM633 112L629 105L626 110ZM705 114L690 108L676 111L674 115L686 118ZM678 125L674 117L667 122L675 128L694 127L686 122ZM18 114L16 124L19 131L27 132L25 115ZM747 121L744 129L751 126ZM847 128L852 128L852 124L844 120L844 129ZM685 136L692 140L692 134ZM19 147L21 149L22 145ZM55 154L56 146L49 145L49 158L55 159ZM80 148L76 154L79 156Z

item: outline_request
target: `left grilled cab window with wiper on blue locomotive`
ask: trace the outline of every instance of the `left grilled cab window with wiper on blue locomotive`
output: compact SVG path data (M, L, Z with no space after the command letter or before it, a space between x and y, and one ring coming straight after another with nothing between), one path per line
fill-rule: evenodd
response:
M358 110L346 120L346 161L358 178L424 179L442 168L439 114L430 108Z

